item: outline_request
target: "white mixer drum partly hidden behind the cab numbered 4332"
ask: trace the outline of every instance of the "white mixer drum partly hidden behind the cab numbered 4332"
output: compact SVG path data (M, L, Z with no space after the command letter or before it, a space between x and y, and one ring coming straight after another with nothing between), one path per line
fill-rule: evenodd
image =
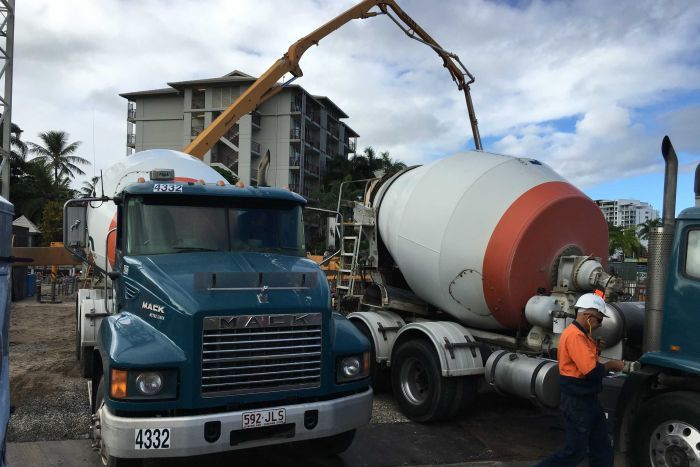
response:
M176 182L204 180L206 183L216 183L223 180L217 171L196 157L167 149L151 149L128 156L105 170L95 185L96 192L101 195L104 186L104 194L111 198L141 177L148 180L154 169L175 170ZM88 246L100 268L105 268L107 260L110 268L114 264L115 233L109 234L109 247L106 241L108 233L116 226L117 207L113 202L90 203L87 209Z

